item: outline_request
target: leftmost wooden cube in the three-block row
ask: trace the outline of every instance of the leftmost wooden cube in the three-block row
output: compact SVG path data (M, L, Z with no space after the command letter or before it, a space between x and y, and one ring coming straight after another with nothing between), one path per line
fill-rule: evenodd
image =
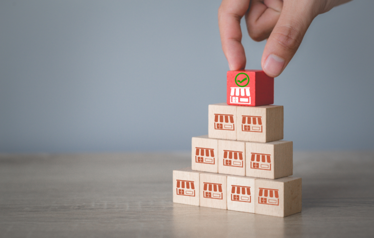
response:
M218 173L218 140L207 135L192 137L192 169Z

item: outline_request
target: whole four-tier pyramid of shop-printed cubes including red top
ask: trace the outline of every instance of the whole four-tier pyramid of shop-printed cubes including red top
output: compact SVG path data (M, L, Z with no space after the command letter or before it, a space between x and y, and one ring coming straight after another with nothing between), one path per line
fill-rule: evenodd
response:
M173 202L286 217L301 212L301 178L292 177L292 141L274 78L227 72L227 102L209 105L208 135L192 138L191 167L173 171Z

